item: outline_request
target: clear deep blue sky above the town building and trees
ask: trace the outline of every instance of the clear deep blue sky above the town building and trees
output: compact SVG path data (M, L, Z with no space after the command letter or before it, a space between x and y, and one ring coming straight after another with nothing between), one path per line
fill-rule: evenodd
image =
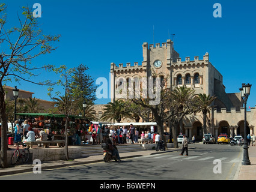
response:
M239 92L242 83L252 84L248 106L255 107L256 1L121 1L121 0L32 0L2 1L8 5L8 23L17 26L20 7L41 4L39 18L44 34L60 34L58 49L34 59L34 65L53 64L77 67L86 64L94 79L109 79L111 62L142 62L142 43L163 43L175 34L174 48L181 60L209 52L210 62L222 74L225 91ZM213 17L213 4L220 3L222 17ZM40 79L55 79L41 74ZM56 78L58 79L58 78ZM47 87L27 82L10 86L34 92L50 100ZM97 104L110 99L97 100Z

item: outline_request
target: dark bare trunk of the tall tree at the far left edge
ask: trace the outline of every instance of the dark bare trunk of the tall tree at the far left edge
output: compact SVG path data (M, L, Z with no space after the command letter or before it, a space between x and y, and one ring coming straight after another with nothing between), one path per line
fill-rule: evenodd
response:
M7 163L7 129L8 129L8 122L7 122L7 115L6 115L6 105L4 101L4 89L2 85L0 85L0 119L1 119L1 165L3 168L8 167Z

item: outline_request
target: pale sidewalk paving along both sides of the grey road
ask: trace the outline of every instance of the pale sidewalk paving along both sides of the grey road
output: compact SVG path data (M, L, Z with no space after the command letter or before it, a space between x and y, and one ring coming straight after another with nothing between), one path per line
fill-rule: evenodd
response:
M200 143L197 143L200 145ZM191 145L189 148L194 148ZM169 148L166 151L153 151L153 150L145 150L145 151L135 151L135 152L122 152L120 153L121 160L133 157L141 157L159 153L166 153L172 151L180 151L180 149ZM251 165L243 166L242 164L237 169L236 175L234 179L236 180L255 180L256 179L256 146L249 146L249 159L251 161ZM97 163L103 161L103 155L91 155L84 158L77 158L72 161L43 161L41 164L41 170L53 169L59 167L66 166L76 166L79 164L90 164ZM122 162L121 162L122 163ZM9 167L7 169L0 168L0 176L4 175L13 175L16 173L24 173L24 172L32 172L35 164L19 164L14 167ZM0 178L1 179L1 178Z

